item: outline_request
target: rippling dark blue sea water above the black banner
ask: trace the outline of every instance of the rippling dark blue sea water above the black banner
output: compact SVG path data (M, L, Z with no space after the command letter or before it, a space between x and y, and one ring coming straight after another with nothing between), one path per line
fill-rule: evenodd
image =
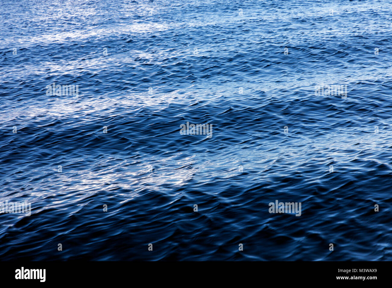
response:
M392 260L391 0L0 3L2 260Z

